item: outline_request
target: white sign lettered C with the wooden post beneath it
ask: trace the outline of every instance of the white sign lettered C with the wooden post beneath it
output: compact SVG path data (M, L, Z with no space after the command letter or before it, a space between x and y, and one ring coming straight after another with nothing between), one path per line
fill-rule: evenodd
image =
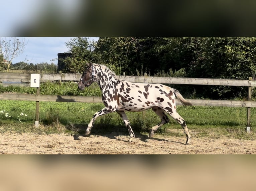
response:
M40 95L40 74L30 75L30 87L36 88L36 95ZM39 101L36 101L35 107L35 126L39 124Z

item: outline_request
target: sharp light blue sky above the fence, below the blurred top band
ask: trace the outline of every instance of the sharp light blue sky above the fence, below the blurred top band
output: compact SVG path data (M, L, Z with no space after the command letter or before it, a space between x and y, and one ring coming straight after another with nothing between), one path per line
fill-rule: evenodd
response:
M8 38L8 37L6 37ZM58 58L58 53L64 53L68 51L65 42L71 40L74 37L18 37L20 41L23 39L27 44L23 54L13 59L12 63L24 62L28 60L28 63L42 63L57 64L58 61L52 59ZM89 37L89 41L97 41L98 37Z

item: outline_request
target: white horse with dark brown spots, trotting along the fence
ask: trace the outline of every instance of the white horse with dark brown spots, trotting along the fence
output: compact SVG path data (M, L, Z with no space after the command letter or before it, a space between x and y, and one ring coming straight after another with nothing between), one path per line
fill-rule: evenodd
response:
M185 120L176 112L175 96L185 106L192 104L186 101L177 90L162 84L127 82L119 79L114 72L104 65L87 63L87 69L78 82L78 88L84 90L93 82L97 82L102 91L102 101L105 107L93 115L86 129L86 135L90 134L97 117L116 111L128 128L130 134L128 141L131 142L135 134L125 111L143 111L152 108L161 118L161 122L151 128L149 138L154 136L154 132L160 126L169 122L166 112L184 129L186 144L189 144L190 134Z

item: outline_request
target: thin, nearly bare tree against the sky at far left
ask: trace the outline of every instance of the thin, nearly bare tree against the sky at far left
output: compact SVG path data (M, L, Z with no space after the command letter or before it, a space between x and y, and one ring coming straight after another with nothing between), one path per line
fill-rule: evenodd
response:
M3 67L7 70L7 72L9 72L11 69L14 69L11 68L12 61L14 58L18 57L24 52L26 45L27 42L25 42L25 39L20 41L19 38L16 37L11 37L9 39L0 38L0 50L5 60ZM25 59L23 65L19 66L19 68L21 69L23 66L26 67L26 62L27 60Z

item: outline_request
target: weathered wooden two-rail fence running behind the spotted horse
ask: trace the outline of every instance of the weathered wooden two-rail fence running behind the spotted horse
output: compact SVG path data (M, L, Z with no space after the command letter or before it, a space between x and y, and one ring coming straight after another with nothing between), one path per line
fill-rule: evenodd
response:
M190 84L190 85L217 85L217 86L245 86L248 87L248 100L208 100L187 99L197 106L226 106L247 107L247 131L250 131L250 108L256 107L256 101L251 101L252 87L256 87L256 81L233 79L209 79L209 78L170 78L152 76L118 76L122 80L138 83L160 84ZM40 82L47 81L74 81L78 82L81 74L40 74ZM30 74L0 73L0 84L3 86L18 85L29 86ZM27 101L62 101L62 102L101 102L101 97L95 96L67 96L67 95L24 95L24 94L0 94L3 100L27 100ZM177 105L181 105L177 101Z

